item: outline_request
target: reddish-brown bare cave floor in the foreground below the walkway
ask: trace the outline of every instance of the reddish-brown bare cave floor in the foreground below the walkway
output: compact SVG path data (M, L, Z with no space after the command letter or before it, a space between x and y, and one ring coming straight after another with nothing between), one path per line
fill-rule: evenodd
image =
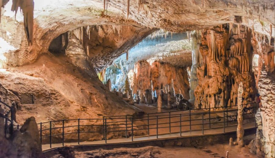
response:
M252 136L252 135L251 135ZM253 135L255 136L255 135ZM244 139L251 140L244 137ZM92 151L77 151L75 150L75 158L94 158L94 157L108 157L108 158L213 158L226 157L226 151L229 151L229 157L234 158L258 158L259 156L249 153L247 147L239 148L238 146L229 146L228 143L214 144L198 147L182 147L182 146L145 146L136 148L113 148L113 149L95 149ZM51 158L63 158L60 154L55 154Z

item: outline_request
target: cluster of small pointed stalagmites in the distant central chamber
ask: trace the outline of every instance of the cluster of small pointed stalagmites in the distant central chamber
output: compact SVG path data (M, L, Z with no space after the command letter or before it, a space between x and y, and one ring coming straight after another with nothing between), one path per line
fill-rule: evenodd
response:
M110 86L110 80L105 84L110 91L112 91ZM159 109L161 108L179 108L179 109L190 109L193 108L192 104L189 103L188 100L184 99L181 93L176 94L174 90L174 82L171 80L171 86L169 88L169 84L167 84L163 89L159 90L159 94L156 93L156 90L153 90L152 80L150 81L149 89L145 91L137 90L135 94L133 94L132 88L130 87L128 77L125 81L125 88L123 90L116 89L113 90L117 96L124 98L125 100L130 101L131 104L148 104L155 105Z

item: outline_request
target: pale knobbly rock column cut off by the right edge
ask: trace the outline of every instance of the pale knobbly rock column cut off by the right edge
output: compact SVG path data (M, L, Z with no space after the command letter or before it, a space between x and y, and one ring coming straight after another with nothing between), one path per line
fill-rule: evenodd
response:
M275 74L274 74L274 37L253 33L252 46L255 54L259 55L258 73L255 75L261 104L261 121L256 135L257 151L264 150L265 157L275 157ZM267 42L267 41L273 42ZM259 132L258 132L259 131ZM260 141L263 139L263 143ZM263 146L261 146L263 144ZM263 149L262 149L263 148Z

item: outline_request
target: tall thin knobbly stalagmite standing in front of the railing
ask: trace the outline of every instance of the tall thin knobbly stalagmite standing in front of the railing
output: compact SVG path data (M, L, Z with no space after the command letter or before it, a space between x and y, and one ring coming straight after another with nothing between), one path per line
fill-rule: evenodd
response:
M244 146L244 127L243 127L243 83L240 82L239 88L238 88L238 99L237 99L237 104L238 104L238 126L237 126L237 143L239 147Z

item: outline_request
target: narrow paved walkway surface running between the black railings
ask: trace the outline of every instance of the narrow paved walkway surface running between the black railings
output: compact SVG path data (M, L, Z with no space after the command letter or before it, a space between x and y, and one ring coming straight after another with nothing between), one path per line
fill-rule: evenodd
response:
M255 122L244 124L244 129L252 129L255 128ZM161 129L159 129L160 131ZM153 141L153 140L165 140L165 139L174 139L174 138L188 138L188 137L194 137L194 136L207 136L207 135L218 135L223 133L230 133L230 132L236 132L237 125L227 126L225 127L225 132L223 127L217 127L217 128L211 128L211 129L204 129L204 134L202 133L202 130L192 130L192 131L183 131L182 136L180 136L180 132L175 133L168 133L168 134L159 134L158 139L156 138L156 135L150 135L150 136L137 136L132 138L125 138L125 139L110 139L107 140L107 144L127 144L127 143L139 143L139 142L147 142L147 141ZM98 145L106 145L105 140L98 140L98 141L85 141L80 142L79 144L76 143L64 143L64 145L70 144L72 146L98 146ZM62 143L58 144L52 144L52 148L50 148L50 144L43 144L42 150L49 151L51 149L55 149L57 147L61 147Z

